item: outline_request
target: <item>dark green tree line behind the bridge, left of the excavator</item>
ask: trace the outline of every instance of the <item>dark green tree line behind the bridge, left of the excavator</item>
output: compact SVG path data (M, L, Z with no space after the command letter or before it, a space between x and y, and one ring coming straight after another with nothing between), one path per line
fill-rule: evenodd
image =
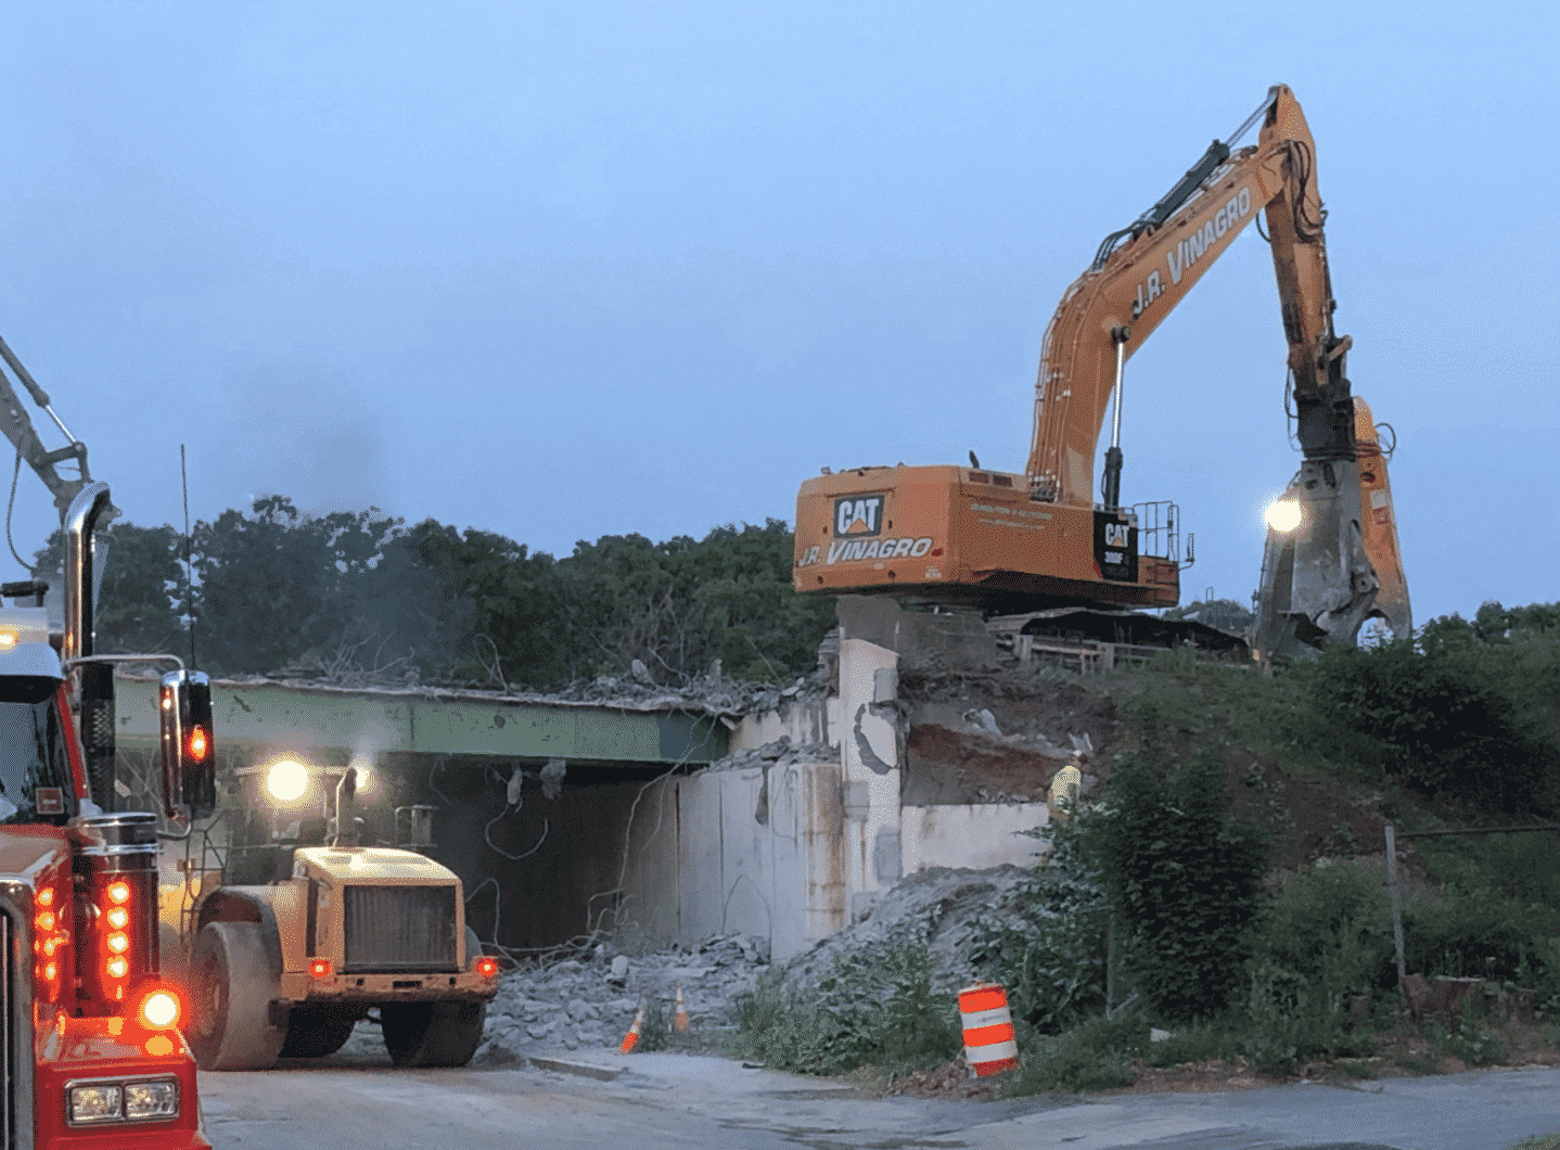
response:
M270 495L170 526L114 523L98 646L187 654L203 669L555 687L627 673L777 682L810 671L833 599L791 590L782 520L652 543L602 535L554 559L504 535L378 509L307 515ZM100 543L100 546L101 546ZM34 576L59 570L58 532Z

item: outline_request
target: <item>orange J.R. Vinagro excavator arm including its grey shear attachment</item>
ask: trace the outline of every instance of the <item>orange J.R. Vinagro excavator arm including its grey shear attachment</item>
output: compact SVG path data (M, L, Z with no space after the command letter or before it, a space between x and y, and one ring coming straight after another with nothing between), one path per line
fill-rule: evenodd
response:
M1259 119L1256 147L1234 150ZM1031 496L1070 506L1094 501L1098 431L1114 392L1104 504L1119 506L1123 367L1259 209L1267 217L1304 462L1285 495L1301 509L1299 523L1268 534L1254 646L1262 657L1293 657L1299 652L1293 640L1309 648L1329 638L1353 643L1368 618L1404 635L1412 612L1385 459L1370 409L1360 403L1357 410L1349 393L1351 339L1332 326L1337 301L1317 148L1295 94L1282 84L1228 142L1214 140L1159 203L1108 236L1062 296L1041 350Z

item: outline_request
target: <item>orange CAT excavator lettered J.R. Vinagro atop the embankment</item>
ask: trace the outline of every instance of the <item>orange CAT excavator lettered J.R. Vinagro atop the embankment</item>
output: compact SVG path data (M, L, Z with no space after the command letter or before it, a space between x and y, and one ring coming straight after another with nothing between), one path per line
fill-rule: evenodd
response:
M1237 148L1259 122L1257 144ZM1281 638L1354 641L1371 616L1402 634L1409 599L1385 460L1368 409L1349 393L1351 339L1332 328L1315 145L1284 86L1270 89L1228 140L1214 140L1153 208L1106 236L1062 295L1041 348L1025 473L981 468L973 453L970 467L824 468L797 495L796 590L888 593L986 615L1083 607L1119 613L1123 641L1136 641L1133 619L1143 621L1143 634L1162 632L1159 619L1129 609L1176 604L1192 540L1182 559L1173 502L1120 502L1123 373L1259 212L1304 462L1285 496L1299 513L1270 531L1257 651ZM1097 499L1094 460L1112 393ZM1365 454L1360 426L1370 432ZM1365 502L1371 516L1360 513Z

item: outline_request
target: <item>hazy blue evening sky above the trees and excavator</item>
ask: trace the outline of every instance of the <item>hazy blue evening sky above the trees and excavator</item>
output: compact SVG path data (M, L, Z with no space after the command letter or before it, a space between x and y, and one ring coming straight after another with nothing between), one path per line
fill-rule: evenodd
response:
M181 442L197 518L554 554L789 521L824 465L1022 470L1062 290L1287 83L1416 621L1560 599L1552 5L6 17L0 334L136 523L179 523ZM1282 381L1250 232L1129 365L1123 501L1181 504L1184 599L1257 584ZM23 476L23 554L51 515Z

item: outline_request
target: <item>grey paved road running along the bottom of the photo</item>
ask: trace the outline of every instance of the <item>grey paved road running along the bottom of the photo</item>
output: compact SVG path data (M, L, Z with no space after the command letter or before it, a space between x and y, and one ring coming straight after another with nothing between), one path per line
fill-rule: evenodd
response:
M612 1080L524 1069L395 1070L382 1056L201 1075L218 1150L1505 1150L1560 1131L1560 1070L1218 1094L1012 1102L860 1099L831 1080L675 1053L562 1055ZM1379 1088L1379 1089L1377 1089Z

